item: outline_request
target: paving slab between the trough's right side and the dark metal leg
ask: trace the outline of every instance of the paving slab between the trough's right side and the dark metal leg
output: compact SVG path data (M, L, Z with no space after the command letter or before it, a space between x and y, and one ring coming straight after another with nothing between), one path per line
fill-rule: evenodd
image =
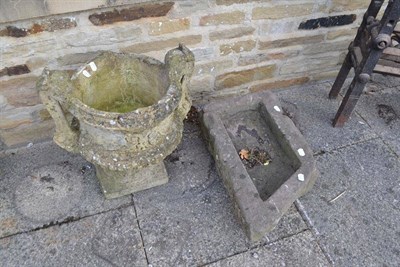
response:
M364 120L354 113L346 127L332 127L340 100L328 99L331 86L331 83L320 83L295 90L276 91L285 112L292 117L316 153L376 137Z

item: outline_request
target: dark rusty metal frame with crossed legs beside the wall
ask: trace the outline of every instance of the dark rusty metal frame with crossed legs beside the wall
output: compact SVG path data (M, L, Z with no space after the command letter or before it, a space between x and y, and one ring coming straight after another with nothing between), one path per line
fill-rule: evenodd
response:
M351 68L354 68L355 76L336 113L334 127L342 127L349 119L373 72L400 76L400 48L392 45L392 40L400 42L400 29L396 29L400 0L389 0L382 18L378 20L384 2L371 1L329 92L329 98L336 98Z

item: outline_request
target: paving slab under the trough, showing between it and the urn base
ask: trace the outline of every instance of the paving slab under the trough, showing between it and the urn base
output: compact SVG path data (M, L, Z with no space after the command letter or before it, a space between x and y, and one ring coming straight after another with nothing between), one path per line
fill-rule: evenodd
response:
M198 128L184 132L183 142L167 158L166 168L168 184L134 194L150 264L203 265L255 246L235 216ZM304 221L292 207L261 243L304 229Z

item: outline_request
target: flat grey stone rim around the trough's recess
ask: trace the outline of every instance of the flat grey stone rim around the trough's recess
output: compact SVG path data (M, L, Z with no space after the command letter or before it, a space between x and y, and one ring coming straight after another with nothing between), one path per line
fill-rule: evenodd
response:
M254 100L258 103L257 106L249 106ZM283 115L282 107L272 93L265 91L258 94L250 94L234 98L232 102L235 103L234 106L229 106L225 102L216 102L206 106L204 108L203 120L204 122L216 122L213 123L214 128L209 132L210 138L216 140L213 142L216 161L231 162L231 168L225 168L227 172L225 175L227 174L226 176L231 178L228 179L225 175L221 176L235 205L239 206L241 220L244 222L252 222L253 228L245 229L247 235L252 241L257 241L264 236L266 231L272 230L272 228L276 226L283 213L289 209L298 195L303 195L307 191L306 189L313 185L318 173L313 172L313 170L315 170L315 161L313 159L312 150L293 122L287 116ZM233 155L228 154L231 151L237 151L224 127L221 119L222 112L220 112L221 110L225 110L228 113L229 111L237 113L257 109L259 109L259 112L265 109L264 115L271 116L271 120L267 121L267 123L270 125L274 134L280 133L288 137L285 139L288 142L291 153L296 156L300 163L300 167L295 173L265 201L261 199L255 184L252 182L237 153ZM278 121L279 123L277 123ZM304 155L301 153L303 156L299 154L299 149L302 149L302 152L304 152ZM219 169L219 164L216 165L218 172L221 174L222 171ZM303 175L303 181L299 179L299 174ZM304 186L303 183L309 185L305 187L306 189L302 192L298 192L298 190ZM237 201L237 199L240 201ZM287 201L282 201L282 199L286 199ZM254 201L258 204L254 205ZM266 222L266 220L268 221ZM265 225L271 225L271 229L266 229Z

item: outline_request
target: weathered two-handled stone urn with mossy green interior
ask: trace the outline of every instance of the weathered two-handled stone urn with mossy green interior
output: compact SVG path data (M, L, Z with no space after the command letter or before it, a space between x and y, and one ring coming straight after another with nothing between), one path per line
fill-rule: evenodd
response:
M101 52L80 68L46 68L37 86L55 143L94 164L106 198L168 182L163 159L182 138L193 67L179 45L165 63Z

